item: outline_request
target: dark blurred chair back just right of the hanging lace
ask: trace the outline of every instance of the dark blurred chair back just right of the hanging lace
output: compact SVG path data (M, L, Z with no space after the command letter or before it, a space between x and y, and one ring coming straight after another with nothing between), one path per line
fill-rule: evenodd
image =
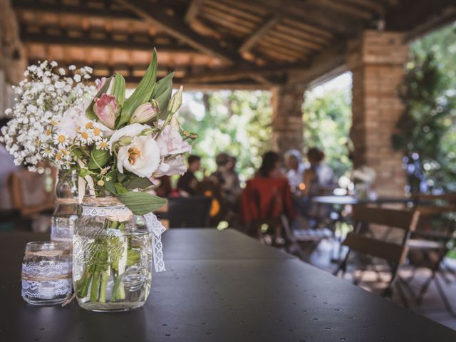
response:
M204 196L170 198L167 213L159 214L159 219L167 219L170 228L209 227L211 201Z

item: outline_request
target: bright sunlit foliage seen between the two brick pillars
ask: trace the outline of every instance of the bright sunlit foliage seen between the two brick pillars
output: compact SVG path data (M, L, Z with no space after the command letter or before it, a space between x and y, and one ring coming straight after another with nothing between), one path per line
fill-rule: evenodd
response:
M304 144L318 147L336 177L351 170L348 136L351 127L351 90L331 90L321 96L310 91L304 102Z

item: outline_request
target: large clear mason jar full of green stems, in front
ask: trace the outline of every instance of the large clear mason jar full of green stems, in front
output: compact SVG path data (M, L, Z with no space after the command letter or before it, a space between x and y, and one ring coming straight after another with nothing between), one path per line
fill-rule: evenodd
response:
M152 284L145 222L116 197L85 197L73 236L73 288L89 311L140 308Z

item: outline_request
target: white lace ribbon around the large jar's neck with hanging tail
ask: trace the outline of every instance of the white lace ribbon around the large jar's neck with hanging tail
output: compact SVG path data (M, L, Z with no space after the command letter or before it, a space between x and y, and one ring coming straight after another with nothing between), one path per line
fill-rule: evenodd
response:
M125 207L125 205L114 205L110 207L91 207L88 205L83 206L83 216L101 216L107 217L112 221L125 222L133 216L133 213ZM142 215L147 230L152 234L152 256L154 260L155 271L162 272L166 271L165 261L163 261L163 244L162 244L162 233L165 232L166 228L157 219L153 212L149 212Z

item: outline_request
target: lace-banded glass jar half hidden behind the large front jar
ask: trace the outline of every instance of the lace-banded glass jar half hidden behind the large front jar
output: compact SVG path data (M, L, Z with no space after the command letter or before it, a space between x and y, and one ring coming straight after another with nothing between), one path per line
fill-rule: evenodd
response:
M75 171L60 170L56 186L56 208L52 215L51 240L72 244L78 216L78 175Z

